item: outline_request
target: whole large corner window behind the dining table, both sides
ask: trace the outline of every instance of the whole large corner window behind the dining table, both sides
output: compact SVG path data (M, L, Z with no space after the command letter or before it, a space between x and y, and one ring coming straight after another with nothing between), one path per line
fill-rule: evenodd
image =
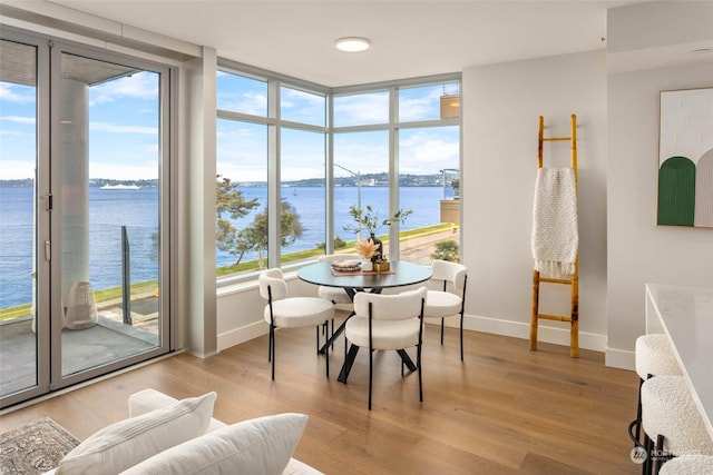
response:
M352 253L369 235L345 229L355 225L350 207L369 206L380 220L413 210L377 232L390 259L428 264L443 257L442 246L458 259L459 85L458 77L446 77L316 90L266 71L223 67L218 277ZM240 206L231 208L227 198Z

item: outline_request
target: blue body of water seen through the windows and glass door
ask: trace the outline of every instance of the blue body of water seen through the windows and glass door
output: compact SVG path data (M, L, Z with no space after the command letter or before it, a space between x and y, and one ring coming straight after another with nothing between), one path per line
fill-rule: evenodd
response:
M450 191L450 189L449 189ZM235 227L250 225L263 212L266 188L243 188L246 199L261 202L251 215L235 221ZM324 188L285 187L283 200L290 201L300 216L302 236L284 251L313 249L325 240ZM441 187L401 187L403 209L413 209L401 230L440 222ZM334 234L353 240L354 232L343 228L352 225L349 207L356 205L356 187L334 189ZM389 189L361 187L361 204L371 205L381 219L388 218ZM32 188L0 188L0 308L29 304L32 300ZM121 285L121 227L126 226L130 247L131 281L158 278L156 239L158 236L158 188L138 190L89 189L89 280L95 290ZM387 234L383 227L379 234ZM245 255L243 260L254 259ZM235 256L217 251L217 266L235 263Z

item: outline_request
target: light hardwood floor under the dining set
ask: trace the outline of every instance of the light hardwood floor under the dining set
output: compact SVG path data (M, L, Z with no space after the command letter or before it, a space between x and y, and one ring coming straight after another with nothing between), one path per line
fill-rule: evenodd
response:
M4 414L2 431L49 416L79 438L126 417L127 396L154 387L177 398L215 390L215 417L238 422L296 412L310 416L295 457L328 474L634 474L626 428L635 415L634 372L604 355L428 325L423 403L416 374L400 376L392 353L374 355L373 410L367 409L369 359L360 352L346 385L336 382L343 339L316 356L314 329L277 333L276 380L267 337L201 359L180 354ZM414 357L414 352L410 352Z

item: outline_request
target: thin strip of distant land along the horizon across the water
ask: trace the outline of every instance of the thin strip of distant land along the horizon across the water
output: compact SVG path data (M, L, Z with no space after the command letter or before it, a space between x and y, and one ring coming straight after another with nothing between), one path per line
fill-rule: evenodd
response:
M0 180L0 188L32 188L33 179L25 178L21 180ZM264 188L266 181L236 181L245 188ZM90 178L89 186L100 188L105 185L137 185L141 188L156 188L158 180L114 180L109 178ZM321 187L324 180L320 178L310 178L304 180L283 181L289 187ZM338 187L355 187L358 185L356 177L338 177L334 178L334 185ZM450 184L449 184L450 185ZM361 176L362 187L388 187L389 174L365 174ZM440 187L443 186L443 176L441 174L433 175L400 175L399 186L401 187Z

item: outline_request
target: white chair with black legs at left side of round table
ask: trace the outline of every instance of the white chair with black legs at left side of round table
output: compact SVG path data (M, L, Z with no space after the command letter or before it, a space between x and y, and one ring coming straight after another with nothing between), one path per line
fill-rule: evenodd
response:
M324 328L334 318L334 304L319 297L287 297L287 284L281 269L260 274L260 296L267 300L263 317L270 325L267 358L272 363L275 379L275 328L316 327L316 353L320 353L320 325ZM330 355L326 355L326 377L330 377Z

